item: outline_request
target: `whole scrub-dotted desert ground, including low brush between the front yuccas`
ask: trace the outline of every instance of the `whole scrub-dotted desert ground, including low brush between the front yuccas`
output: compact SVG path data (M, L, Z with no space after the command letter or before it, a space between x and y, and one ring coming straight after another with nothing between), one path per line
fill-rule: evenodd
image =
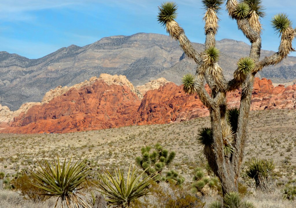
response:
M272 125L270 123L271 117L273 118ZM274 148L285 150L291 142L294 145L294 120L296 120L294 111L288 110L253 111L250 114L250 125L254 127L252 132L248 134L249 140L245 150L246 157L242 165L243 172L239 179L239 193L241 196L245 196L257 208L296 207L296 200L283 199L284 184L290 183L292 186L295 186L296 155L291 154L292 151L283 151L284 155L280 156L281 151L276 152L271 147L274 144ZM261 125L257 125L258 123ZM4 183L4 187L7 189L0 191L0 203L1 205L5 204L6 208L54 207L56 202L54 198L44 202L37 201L33 203L30 202L31 200L26 200L28 197L23 199L23 196L18 196L17 193L8 190L14 188L14 178L21 177L24 172L28 173L28 170L38 166L38 161L41 161L42 166L46 167L46 164L42 163L42 158L55 158L56 154L59 154L60 157L70 158L73 154L72 160L74 163L81 157L88 158L87 164L93 166L90 176L97 180L98 174L103 173L102 170L105 168L112 173L113 177L113 171L111 170L117 169L117 167L126 175L129 164L136 165L135 158L141 155L141 147L143 145L151 146L151 153L154 150L155 144L160 143L166 149L176 152L169 167L182 174L185 181L182 187L172 183L175 181L153 184L150 189L151 195L135 200L134 206L136 207L141 203L143 206L139 205L138 207L156 208L158 205L165 207L165 203L168 201L173 203L177 199L178 204L187 201L186 206L188 207L208 207L216 198L219 199L221 192L218 191L218 194L209 194L208 197L202 197L203 201L200 201L201 197L197 196L197 192L192 192L191 185L193 183L194 170L200 167L206 176L210 173L206 159L202 154L202 146L195 146L199 132L192 132L194 126L199 126L200 129L210 126L209 117L165 125L129 126L67 134L1 134L0 140L3 145L0 146L0 151L2 152L1 158L3 159L0 161L0 172L5 174L4 179L6 183ZM282 133L283 128L285 128L284 133ZM264 129L264 133L262 133L262 129ZM147 136L149 136L149 139L146 138ZM78 140L81 141L78 142ZM34 148L31 148L31 146ZM92 151L90 152L88 149ZM112 151L111 156L108 155L110 151ZM278 187L274 192L266 194L255 190L255 180L250 179L246 171L248 170L250 159L268 159L270 157L266 156L268 153L272 154L274 158L276 167L271 173L271 177L278 180ZM18 176L17 164L19 164ZM4 168L4 166L7 166L7 168ZM210 175L213 177L213 173L210 173ZM85 184L81 184L81 187L84 188L79 190L79 192L86 195L81 195L81 198L88 201L90 206L92 206L90 202L92 200L91 192L96 193L96 191L94 191L95 188L92 185L88 186ZM88 182L88 184L90 183ZM12 190L16 191L16 189ZM18 193L21 194L20 191ZM213 191L213 193L216 192ZM206 204L204 204L205 202ZM61 207L60 202L58 202L57 207Z

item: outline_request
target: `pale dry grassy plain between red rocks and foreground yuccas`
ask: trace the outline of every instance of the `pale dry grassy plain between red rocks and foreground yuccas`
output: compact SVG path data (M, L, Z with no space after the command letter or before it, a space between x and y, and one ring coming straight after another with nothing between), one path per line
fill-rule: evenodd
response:
M286 183L288 180L296 179L296 155L293 154L296 148L295 122L296 112L293 110L252 111L244 161L252 157L273 158L279 182ZM113 169L117 166L126 168L129 163L135 163L134 160L140 155L142 146L159 142L165 148L176 151L173 168L186 178L185 182L190 182L193 168L205 161L196 139L198 130L205 126L210 127L209 117L181 123L128 126L66 134L0 134L0 172L5 172L11 177L17 170L33 167L43 158L52 159L58 154L62 159L70 157L72 153L76 159L89 157L98 169ZM242 177L245 180L244 172ZM249 189L253 190L252 180L247 181L247 184L251 186ZM21 197L17 197L15 193L11 196L15 196L15 206L25 203L18 202ZM280 198L280 195L278 198L274 197L274 202L271 202L274 205L268 206L281 207L288 203ZM268 203L264 200L269 200L264 194L255 194L250 199L254 202L258 200L258 203L255 203L258 204L257 207L266 207ZM4 200L2 195L1 200ZM8 201L0 203L0 206ZM7 207L9 206L7 204ZM295 207L295 204L293 206Z

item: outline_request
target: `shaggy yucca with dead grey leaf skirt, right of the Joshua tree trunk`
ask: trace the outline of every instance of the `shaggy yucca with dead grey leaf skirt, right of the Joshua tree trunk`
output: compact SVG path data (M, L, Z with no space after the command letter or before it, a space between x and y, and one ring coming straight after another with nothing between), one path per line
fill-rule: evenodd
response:
M272 160L252 159L246 173L250 178L255 180L257 190L274 191L276 181L271 178L271 172L274 168L275 165Z

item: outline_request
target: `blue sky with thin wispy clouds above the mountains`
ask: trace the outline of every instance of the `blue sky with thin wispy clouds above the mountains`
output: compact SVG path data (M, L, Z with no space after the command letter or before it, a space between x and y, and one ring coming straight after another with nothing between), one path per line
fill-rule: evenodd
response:
M262 0L262 49L277 51L279 35L270 25L277 13L286 13L296 27L296 1ZM85 46L107 36L135 33L167 34L157 22L158 0L1 0L0 51L36 59L72 44ZM201 1L176 0L176 21L192 42L204 43ZM225 12L219 15L217 40L249 41ZM293 41L296 48L296 41ZM296 56L296 52L291 55Z

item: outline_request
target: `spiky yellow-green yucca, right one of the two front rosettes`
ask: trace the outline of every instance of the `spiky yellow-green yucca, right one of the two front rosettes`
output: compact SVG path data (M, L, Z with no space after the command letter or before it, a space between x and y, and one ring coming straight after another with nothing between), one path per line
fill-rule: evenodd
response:
M142 179L145 170L138 174L136 167L128 169L127 178L125 180L123 172L118 168L115 170L115 176L106 170L99 175L100 181L94 183L99 188L99 192L106 196L106 201L110 207L128 208L134 200L141 196L149 194L149 185L153 182L154 176L147 176Z

